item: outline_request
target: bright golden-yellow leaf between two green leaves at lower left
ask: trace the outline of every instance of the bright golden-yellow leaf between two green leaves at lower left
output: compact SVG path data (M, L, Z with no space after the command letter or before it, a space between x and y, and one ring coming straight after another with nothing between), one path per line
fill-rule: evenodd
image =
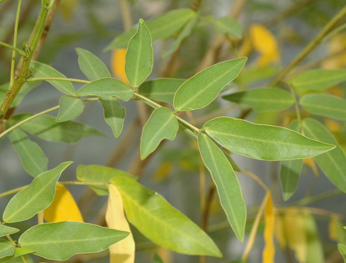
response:
M44 219L48 223L60 221L84 222L72 194L62 184L56 185L54 200L44 210Z

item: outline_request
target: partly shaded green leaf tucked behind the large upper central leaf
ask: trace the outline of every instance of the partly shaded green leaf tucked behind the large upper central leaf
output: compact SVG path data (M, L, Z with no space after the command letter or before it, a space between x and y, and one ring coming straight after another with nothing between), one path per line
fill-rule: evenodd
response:
M175 92L185 82L184 79L159 78L145 81L138 87L139 94L156 101L173 105Z

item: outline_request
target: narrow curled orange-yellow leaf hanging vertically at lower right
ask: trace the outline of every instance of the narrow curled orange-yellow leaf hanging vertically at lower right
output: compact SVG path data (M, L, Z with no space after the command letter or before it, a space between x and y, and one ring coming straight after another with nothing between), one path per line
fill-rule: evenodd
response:
M274 226L275 226L275 214L273 207L273 200L271 195L267 199L267 205L264 212L264 249L262 254L263 263L274 263L275 246L274 246Z

